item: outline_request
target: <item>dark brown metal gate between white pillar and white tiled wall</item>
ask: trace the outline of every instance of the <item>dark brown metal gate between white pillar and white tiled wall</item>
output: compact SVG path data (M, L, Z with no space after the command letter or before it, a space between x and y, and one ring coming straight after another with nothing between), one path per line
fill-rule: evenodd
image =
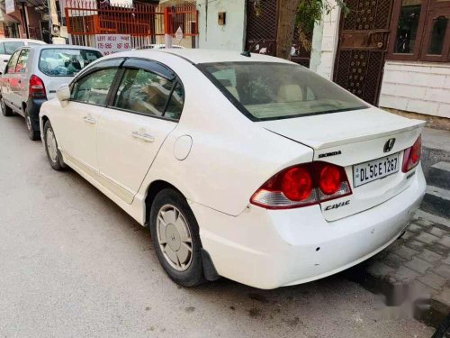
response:
M377 105L393 0L348 0L341 17L334 81Z

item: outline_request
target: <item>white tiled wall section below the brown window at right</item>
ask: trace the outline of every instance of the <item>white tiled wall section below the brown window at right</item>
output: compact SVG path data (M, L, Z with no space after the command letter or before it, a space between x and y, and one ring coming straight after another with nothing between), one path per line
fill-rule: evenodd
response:
M386 61L379 105L450 118L450 65Z

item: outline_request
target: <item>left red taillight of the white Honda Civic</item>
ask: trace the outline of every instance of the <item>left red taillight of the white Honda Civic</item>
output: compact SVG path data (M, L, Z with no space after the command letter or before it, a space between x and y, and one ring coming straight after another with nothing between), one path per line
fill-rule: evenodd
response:
M267 209L287 209L311 206L351 193L344 168L312 162L280 171L257 189L250 202Z

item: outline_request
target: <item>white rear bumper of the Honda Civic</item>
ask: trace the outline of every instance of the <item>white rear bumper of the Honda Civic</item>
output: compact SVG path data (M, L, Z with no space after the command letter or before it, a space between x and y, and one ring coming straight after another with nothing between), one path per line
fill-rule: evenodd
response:
M410 187L379 206L327 222L320 206L230 216L191 204L203 248L220 276L255 288L321 279L368 259L409 224L425 194L419 166Z

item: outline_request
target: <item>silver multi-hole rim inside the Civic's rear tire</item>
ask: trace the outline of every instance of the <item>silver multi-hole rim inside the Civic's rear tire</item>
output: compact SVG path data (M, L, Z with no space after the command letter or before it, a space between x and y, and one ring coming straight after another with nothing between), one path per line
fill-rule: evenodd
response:
M162 206L157 213L157 242L167 263L184 271L193 260L193 240L184 215L172 205Z

